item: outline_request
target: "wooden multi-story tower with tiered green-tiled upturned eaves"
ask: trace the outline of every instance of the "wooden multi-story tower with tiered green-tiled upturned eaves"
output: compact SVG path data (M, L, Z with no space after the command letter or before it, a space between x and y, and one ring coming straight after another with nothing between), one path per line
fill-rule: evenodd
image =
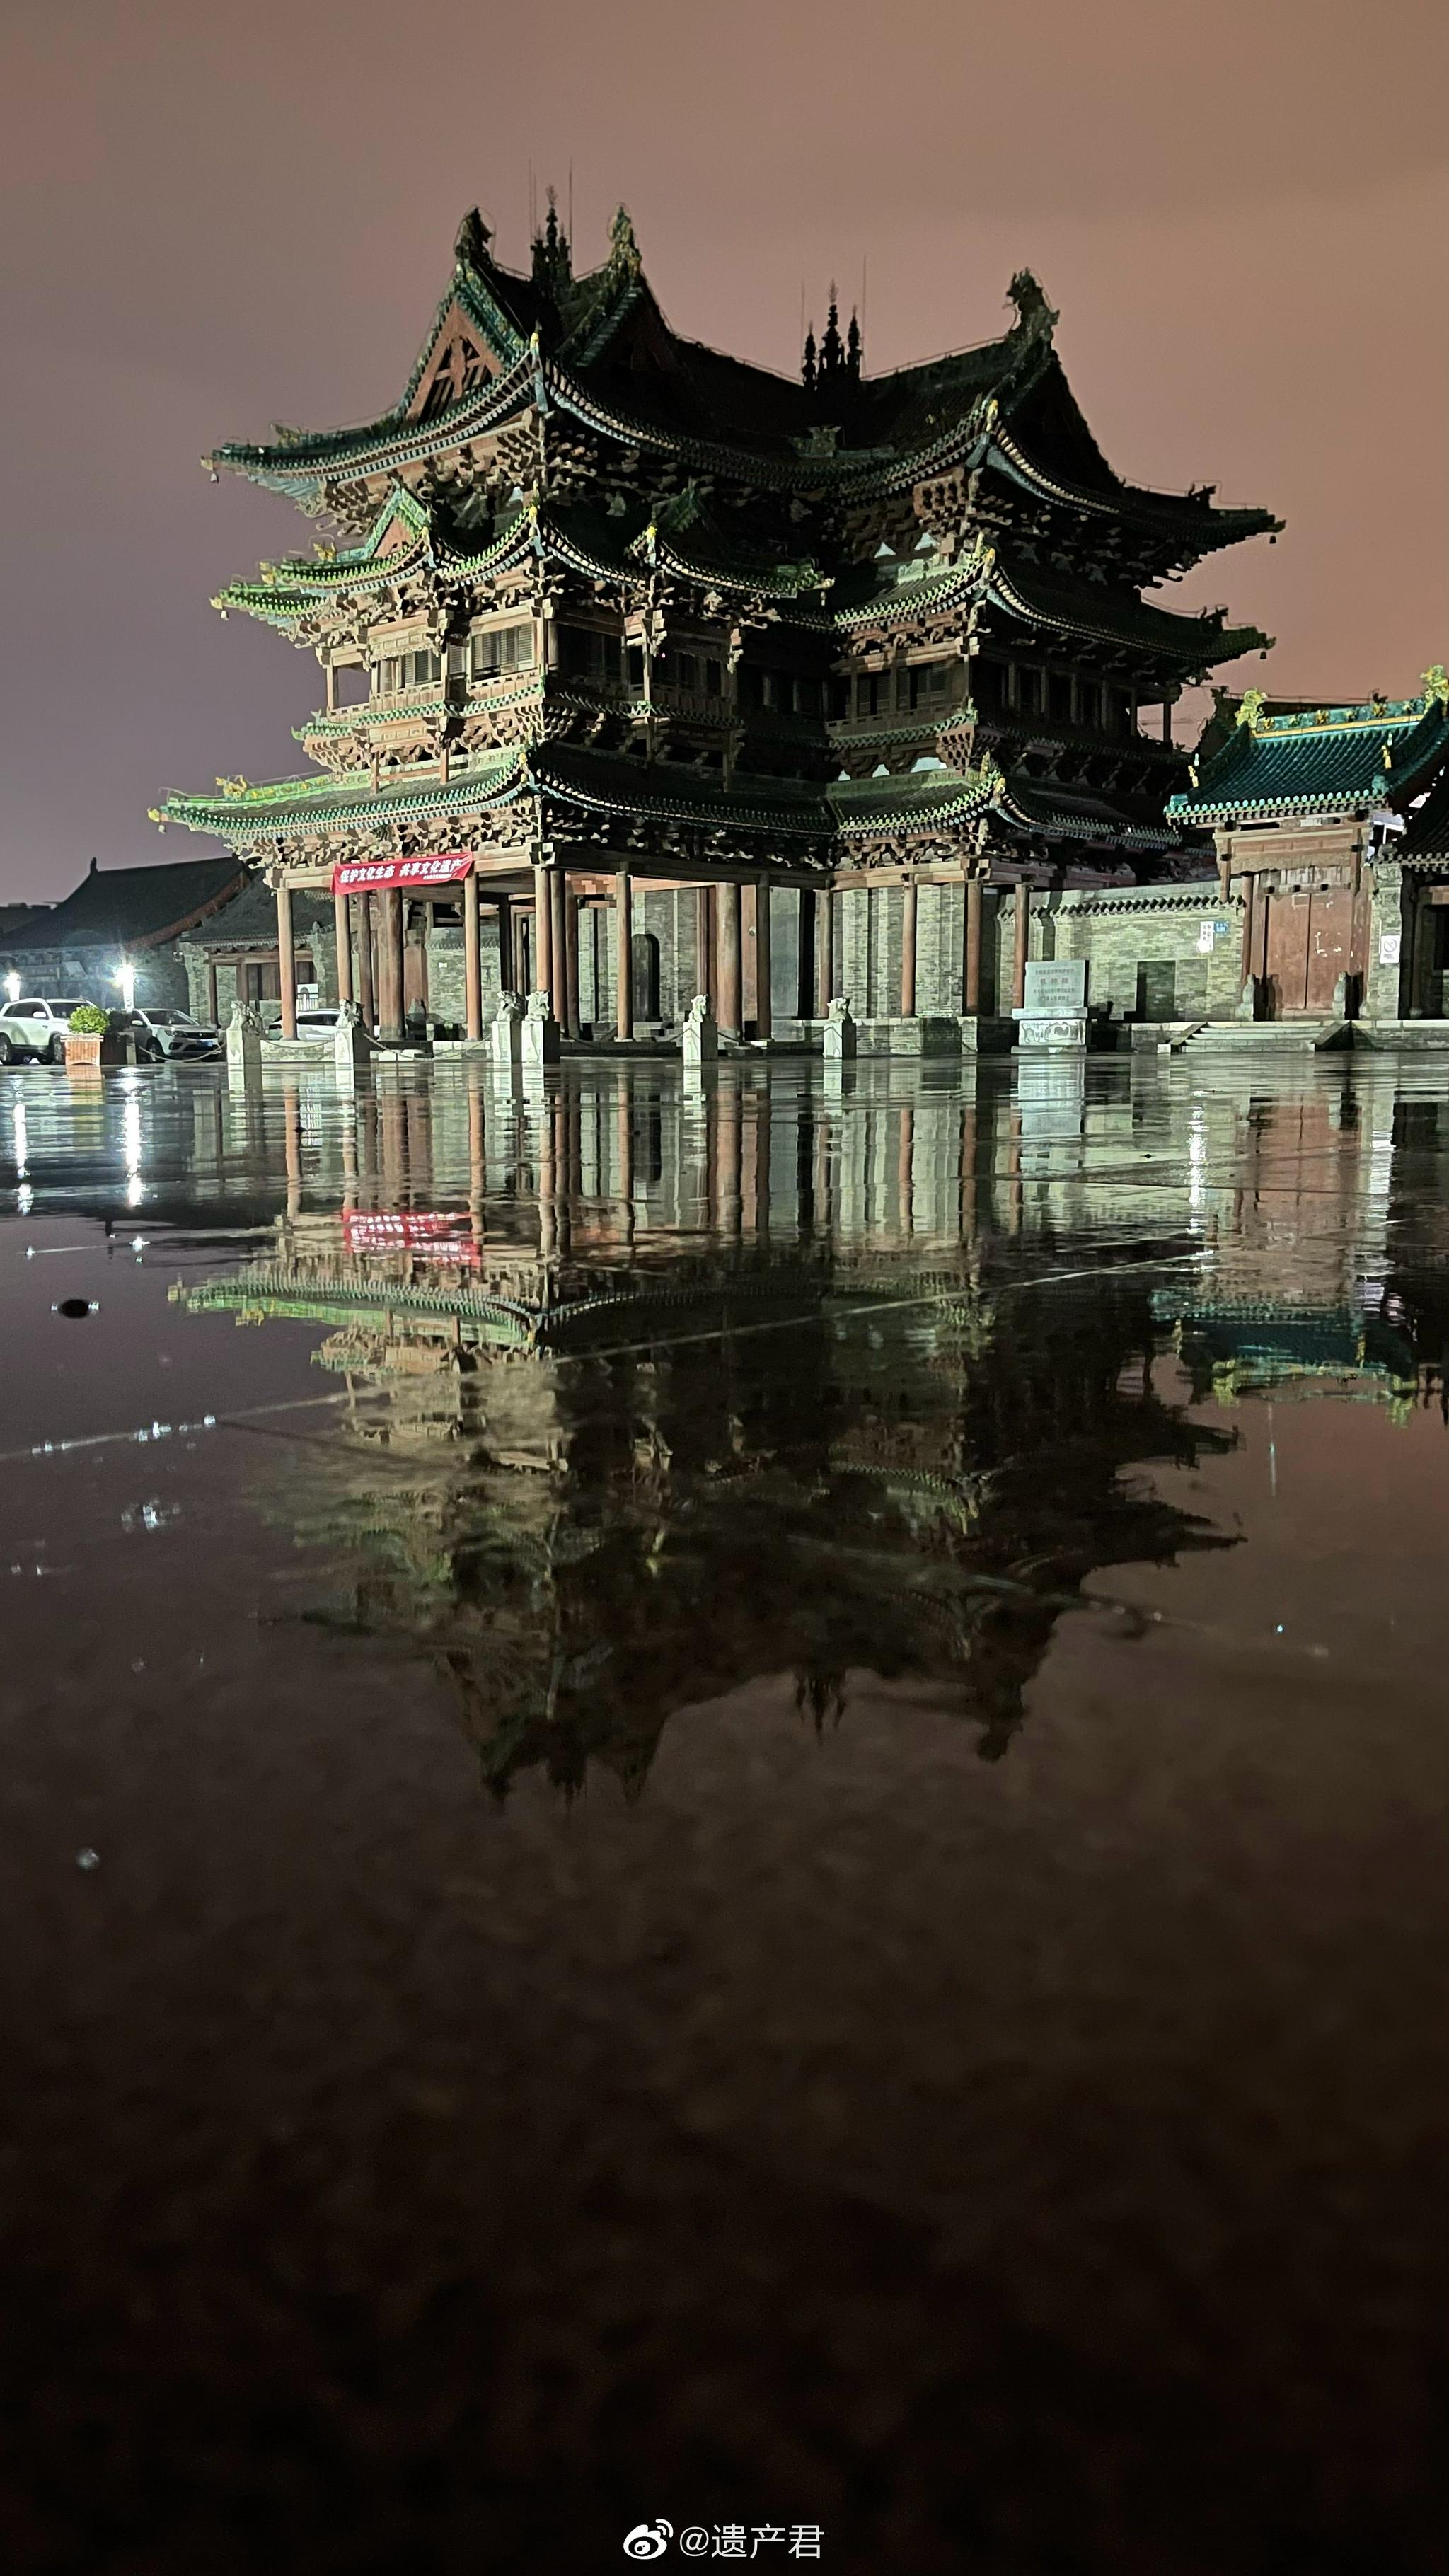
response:
M768 1033L841 989L1003 1007L1000 889L1173 873L1173 698L1269 639L1142 592L1276 520L1111 474L1011 299L890 376L830 307L794 381L681 340L627 214L580 278L552 209L529 276L469 214L382 420L219 448L330 531L217 603L317 654L315 770L157 822L268 868L284 1020L297 886L387 1036L418 907L462 914L469 1033L492 981Z

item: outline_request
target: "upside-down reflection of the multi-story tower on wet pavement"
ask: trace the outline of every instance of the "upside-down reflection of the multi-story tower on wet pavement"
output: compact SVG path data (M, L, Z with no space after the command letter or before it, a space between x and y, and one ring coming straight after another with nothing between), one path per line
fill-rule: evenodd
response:
M1083 1577L1207 1543L1119 1473L1199 1445L1147 1283L1021 1288L1003 1090L627 1069L356 1118L343 1206L289 1159L268 1260L191 1301L325 1327L312 1615L425 1654L492 1785L637 1785L676 1710L781 1672L815 1718L926 1677L1000 1752Z

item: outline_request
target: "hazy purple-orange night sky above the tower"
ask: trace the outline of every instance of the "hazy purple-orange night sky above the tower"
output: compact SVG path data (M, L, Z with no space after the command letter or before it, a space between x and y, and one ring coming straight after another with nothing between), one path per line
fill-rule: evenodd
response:
M0 896L196 855L147 806L276 778L315 659L209 598L307 549L201 451L402 392L480 204L575 265L619 201L676 330L794 371L866 273L866 368L985 340L1029 265L1109 461L1287 518L1168 605L1276 634L1238 685L1449 659L1441 0L5 0Z

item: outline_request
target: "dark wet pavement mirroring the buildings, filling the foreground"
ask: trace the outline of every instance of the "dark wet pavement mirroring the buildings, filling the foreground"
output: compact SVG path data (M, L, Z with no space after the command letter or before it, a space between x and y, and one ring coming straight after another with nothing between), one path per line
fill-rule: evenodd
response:
M5 2563L1444 2568L1444 1074L384 1079L0 1077Z

